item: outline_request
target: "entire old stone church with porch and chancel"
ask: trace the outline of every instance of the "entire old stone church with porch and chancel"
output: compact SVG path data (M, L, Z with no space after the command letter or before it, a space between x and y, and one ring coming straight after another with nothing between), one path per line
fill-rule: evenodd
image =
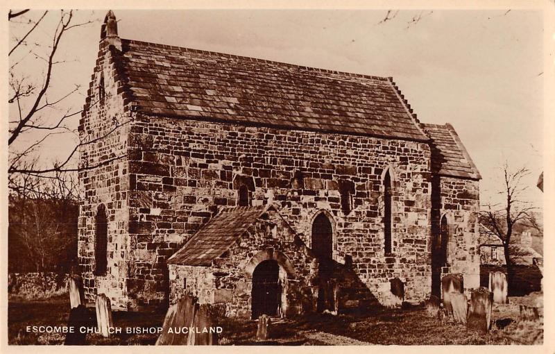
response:
M479 172L392 78L125 40L110 11L79 133L88 299L257 318L479 286Z

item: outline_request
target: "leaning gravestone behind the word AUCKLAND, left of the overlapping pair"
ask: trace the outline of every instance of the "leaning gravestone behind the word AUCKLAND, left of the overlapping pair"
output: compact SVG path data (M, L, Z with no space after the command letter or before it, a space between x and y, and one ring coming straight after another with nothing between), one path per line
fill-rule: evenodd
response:
M169 333L169 328L182 328L193 326L196 298L184 295L177 303L171 305L164 317L162 333L156 340L157 346L186 345L189 333ZM192 340L193 338L191 338Z

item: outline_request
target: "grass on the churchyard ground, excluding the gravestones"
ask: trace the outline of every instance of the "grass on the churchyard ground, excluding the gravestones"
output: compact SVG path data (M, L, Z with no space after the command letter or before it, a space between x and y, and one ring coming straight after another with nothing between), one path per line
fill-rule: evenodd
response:
M499 307L500 306L500 307ZM44 301L10 299L8 302L8 338L10 344L63 344L64 335L35 334L25 331L28 325L65 326L69 315L67 296ZM164 314L114 312L114 326L162 326ZM442 345L442 344L532 344L543 342L543 323L523 323L518 319L518 305L497 305L493 320L498 324L483 335L466 330L458 323L440 323L429 317L425 308L379 309L367 314L311 314L298 319L275 320L270 327L271 339L255 342L257 323L249 320L223 319L220 344L223 345ZM325 331L325 332L323 332ZM121 333L110 338L87 335L88 344L148 345L157 335Z

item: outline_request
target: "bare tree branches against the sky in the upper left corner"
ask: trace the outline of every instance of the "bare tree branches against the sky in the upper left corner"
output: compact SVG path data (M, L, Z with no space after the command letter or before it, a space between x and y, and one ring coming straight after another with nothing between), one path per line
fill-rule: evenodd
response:
M64 42L67 33L94 22L91 19L78 22L75 15L74 10L20 10L8 13L12 33L8 53L8 186L17 194L36 189L41 185L40 178L58 179L64 184L66 182L60 178L74 179L68 172L94 168L78 167L76 156L82 146L94 144L105 137L78 140L76 126L82 110L74 109L67 101L71 96L84 94L80 85L67 87L61 94L53 90L54 79L56 75L63 74L60 69L67 62L60 58L63 46L68 45ZM54 26L43 28L46 19ZM44 40L45 33L49 40ZM42 67L42 76L29 76L26 69L31 66ZM91 106L95 104L92 102ZM126 122L117 122L108 134L123 124ZM66 155L56 162L43 162L41 150L44 144L57 138L71 141ZM36 192L44 193L44 190L36 189Z

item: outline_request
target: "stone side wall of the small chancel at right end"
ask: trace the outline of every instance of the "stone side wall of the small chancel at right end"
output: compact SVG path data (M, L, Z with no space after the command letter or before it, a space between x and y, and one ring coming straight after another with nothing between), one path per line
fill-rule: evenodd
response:
M463 273L465 289L480 286L480 251L477 212L479 182L441 177L441 216L447 217L447 269Z

